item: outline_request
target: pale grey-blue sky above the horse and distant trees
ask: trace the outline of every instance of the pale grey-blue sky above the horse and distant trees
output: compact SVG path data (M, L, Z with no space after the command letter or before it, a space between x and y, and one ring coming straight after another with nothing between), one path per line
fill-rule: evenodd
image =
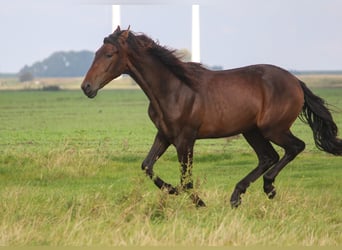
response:
M192 3L205 65L342 70L341 0L0 0L0 72L56 51L96 51L113 31L111 4L121 4L122 28L191 50Z

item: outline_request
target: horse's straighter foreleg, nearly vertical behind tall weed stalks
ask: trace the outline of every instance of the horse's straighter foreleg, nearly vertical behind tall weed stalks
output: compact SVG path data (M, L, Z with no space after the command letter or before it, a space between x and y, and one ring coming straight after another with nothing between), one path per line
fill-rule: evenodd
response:
M194 187L192 179L193 146L194 143L191 143L190 145L185 144L177 147L177 154L181 172L181 189L186 191L193 190ZM196 204L196 206L205 206L205 203L193 191L190 193L190 198Z

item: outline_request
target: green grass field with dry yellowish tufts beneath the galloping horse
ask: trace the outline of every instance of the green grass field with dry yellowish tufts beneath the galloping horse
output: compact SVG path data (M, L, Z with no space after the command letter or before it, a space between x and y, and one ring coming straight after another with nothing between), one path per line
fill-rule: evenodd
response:
M316 88L340 112L342 88ZM140 169L156 133L140 90L0 91L0 245L4 246L312 246L342 244L342 158L307 143L280 174L270 201L261 180L241 207L233 188L256 165L241 138L198 141L197 209L187 194L168 196ZM340 137L341 134L340 134ZM178 184L170 148L156 172Z

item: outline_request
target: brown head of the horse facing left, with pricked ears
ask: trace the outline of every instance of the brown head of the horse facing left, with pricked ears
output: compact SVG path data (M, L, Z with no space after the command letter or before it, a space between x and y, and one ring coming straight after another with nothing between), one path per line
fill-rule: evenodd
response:
M129 28L122 31L118 26L113 34L104 39L103 45L96 51L94 61L81 85L83 92L89 98L94 98L99 89L127 70L128 35Z

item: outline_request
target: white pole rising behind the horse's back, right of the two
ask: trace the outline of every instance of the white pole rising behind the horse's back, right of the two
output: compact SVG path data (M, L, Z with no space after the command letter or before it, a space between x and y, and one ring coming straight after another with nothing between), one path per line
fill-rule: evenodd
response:
M192 5L192 37L191 37L191 60L201 62L200 55L200 12L199 5Z

